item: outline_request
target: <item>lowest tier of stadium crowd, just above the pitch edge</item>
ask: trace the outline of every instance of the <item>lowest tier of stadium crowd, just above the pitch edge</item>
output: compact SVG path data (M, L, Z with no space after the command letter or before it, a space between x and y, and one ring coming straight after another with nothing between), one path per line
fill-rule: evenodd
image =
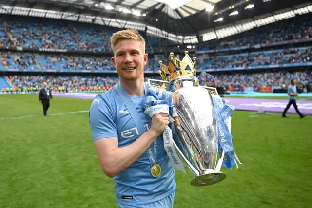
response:
M254 73L214 74L206 72L198 74L201 85L223 87L228 91L244 91L252 87L254 91L262 88L287 89L292 78L297 79L300 92L312 91L312 71L264 71ZM59 92L86 92L92 90L107 90L117 83L117 76L55 76L55 75L11 75L11 81L20 89L20 92L37 92L47 81L53 91ZM160 76L145 76L145 79L161 79ZM2 90L3 92L3 90Z

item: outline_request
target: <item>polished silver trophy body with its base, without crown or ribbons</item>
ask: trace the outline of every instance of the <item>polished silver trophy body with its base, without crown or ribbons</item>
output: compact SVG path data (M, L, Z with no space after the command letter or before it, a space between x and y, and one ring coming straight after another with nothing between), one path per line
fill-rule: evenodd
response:
M223 154L218 156L215 107L209 91L196 87L186 77L174 82L176 114L174 145L181 159L195 175L194 186L207 186L225 179L220 172Z

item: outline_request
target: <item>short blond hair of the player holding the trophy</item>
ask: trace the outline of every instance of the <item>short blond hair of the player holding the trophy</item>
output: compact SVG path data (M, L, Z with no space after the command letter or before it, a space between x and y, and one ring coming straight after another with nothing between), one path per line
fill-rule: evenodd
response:
M120 30L113 34L111 37L111 47L113 52L115 53L114 49L119 41L127 39L137 40L140 42L142 44L143 53L145 54L145 40L135 29Z

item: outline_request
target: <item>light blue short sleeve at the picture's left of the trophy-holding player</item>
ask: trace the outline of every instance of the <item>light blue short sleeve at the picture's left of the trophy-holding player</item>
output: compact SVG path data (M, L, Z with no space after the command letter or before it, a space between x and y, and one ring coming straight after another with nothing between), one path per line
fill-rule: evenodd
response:
M93 141L118 136L112 100L102 94L97 95L91 104L89 123Z

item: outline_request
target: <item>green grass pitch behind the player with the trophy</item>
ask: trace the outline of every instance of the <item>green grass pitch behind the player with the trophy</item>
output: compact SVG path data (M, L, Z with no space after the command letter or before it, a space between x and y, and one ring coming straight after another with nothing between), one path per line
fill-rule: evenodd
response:
M0 95L1 208L116 207L83 112L91 102L55 97L44 117L38 95ZM233 143L244 164L223 167L227 178L207 187L176 171L174 207L311 207L312 117L288 116L235 111Z

